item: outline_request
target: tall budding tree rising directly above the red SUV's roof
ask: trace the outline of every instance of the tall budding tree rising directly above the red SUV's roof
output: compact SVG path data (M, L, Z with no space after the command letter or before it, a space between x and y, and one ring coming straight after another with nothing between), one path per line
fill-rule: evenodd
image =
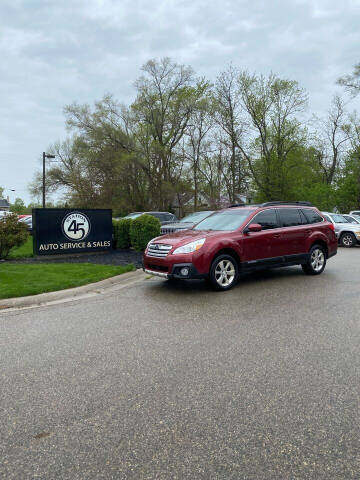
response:
M247 72L239 76L239 94L245 125L239 148L248 162L258 197L283 199L288 160L305 142L305 131L296 115L304 111L307 94L295 81Z

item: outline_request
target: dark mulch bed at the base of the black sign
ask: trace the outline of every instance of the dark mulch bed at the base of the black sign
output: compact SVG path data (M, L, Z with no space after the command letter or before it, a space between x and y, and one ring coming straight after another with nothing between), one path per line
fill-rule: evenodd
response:
M81 255L46 255L42 257L16 258L6 260L11 263L96 263L99 265L128 265L142 268L142 252L118 249L111 252Z

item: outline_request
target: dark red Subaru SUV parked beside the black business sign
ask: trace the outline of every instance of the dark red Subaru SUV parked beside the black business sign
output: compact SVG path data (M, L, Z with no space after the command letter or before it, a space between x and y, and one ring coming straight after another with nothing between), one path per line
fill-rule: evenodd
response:
M144 271L168 279L206 278L217 290L240 273L301 265L323 272L337 253L334 226L309 202L267 202L213 213L190 230L149 242Z

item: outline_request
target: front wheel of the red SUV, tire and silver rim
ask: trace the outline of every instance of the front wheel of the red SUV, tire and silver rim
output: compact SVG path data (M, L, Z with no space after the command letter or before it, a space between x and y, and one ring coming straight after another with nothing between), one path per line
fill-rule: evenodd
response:
M219 255L211 264L209 282L214 290L230 290L239 276L239 266L231 255Z

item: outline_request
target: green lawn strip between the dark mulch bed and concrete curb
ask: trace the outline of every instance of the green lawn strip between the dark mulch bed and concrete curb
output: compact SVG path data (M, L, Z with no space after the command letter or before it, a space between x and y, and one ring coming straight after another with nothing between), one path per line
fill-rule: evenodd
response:
M0 298L78 287L134 270L133 265L90 263L0 264Z

